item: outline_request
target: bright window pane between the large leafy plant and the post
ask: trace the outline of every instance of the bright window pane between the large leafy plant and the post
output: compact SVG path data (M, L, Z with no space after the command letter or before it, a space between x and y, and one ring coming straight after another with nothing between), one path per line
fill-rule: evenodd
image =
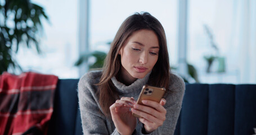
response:
M20 47L17 61L24 71L55 74L59 78L78 78L78 68L74 66L78 59L78 1L32 2L44 8L50 24L46 20L42 22L42 54L38 55L35 48Z

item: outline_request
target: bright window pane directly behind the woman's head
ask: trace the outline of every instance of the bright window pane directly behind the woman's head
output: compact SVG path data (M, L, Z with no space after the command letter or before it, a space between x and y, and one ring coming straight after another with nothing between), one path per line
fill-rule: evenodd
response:
M177 64L177 1L100 1L91 2L91 50L108 51L122 22L135 12L146 11L156 17L164 27L170 55L170 63ZM107 49L106 49L107 48ZM107 52L106 51L106 52Z

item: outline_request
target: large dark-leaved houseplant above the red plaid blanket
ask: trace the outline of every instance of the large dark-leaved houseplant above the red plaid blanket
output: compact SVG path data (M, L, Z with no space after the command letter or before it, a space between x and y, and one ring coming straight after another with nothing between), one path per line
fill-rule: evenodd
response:
M43 7L30 0L0 1L0 73L8 68L19 68L14 55L21 44L35 46L40 53L39 39L43 30L42 19L48 20Z

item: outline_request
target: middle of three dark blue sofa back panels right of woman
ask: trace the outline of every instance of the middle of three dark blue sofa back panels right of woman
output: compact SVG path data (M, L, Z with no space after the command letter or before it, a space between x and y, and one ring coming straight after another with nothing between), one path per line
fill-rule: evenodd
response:
M235 86L209 85L208 134L234 134Z

